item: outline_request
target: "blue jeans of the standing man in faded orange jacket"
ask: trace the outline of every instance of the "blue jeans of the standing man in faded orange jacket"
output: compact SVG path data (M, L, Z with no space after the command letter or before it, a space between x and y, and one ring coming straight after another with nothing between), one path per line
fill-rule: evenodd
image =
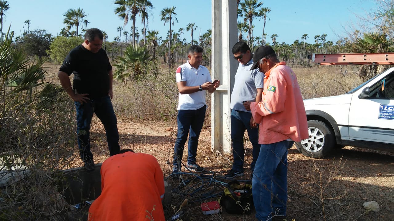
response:
M261 145L252 180L253 203L259 221L266 221L274 214L286 215L287 149L293 143L283 140Z

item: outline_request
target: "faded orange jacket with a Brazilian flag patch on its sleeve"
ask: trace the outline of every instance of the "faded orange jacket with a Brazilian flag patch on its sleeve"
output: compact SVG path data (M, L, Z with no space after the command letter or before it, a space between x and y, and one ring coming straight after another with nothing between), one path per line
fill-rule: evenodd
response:
M262 73L261 73L262 74ZM265 73L262 102L250 105L259 126L259 144L308 138L308 123L296 74L285 62Z

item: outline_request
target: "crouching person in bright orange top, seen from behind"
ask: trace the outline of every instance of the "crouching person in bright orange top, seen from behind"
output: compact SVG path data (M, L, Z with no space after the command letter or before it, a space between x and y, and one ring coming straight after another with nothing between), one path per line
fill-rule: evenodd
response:
M164 177L155 157L121 150L101 165L101 195L89 208L89 221L165 221Z

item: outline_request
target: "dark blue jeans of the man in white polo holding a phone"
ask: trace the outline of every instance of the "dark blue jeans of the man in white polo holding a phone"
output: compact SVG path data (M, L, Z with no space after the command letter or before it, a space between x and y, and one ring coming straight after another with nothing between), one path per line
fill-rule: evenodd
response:
M173 165L180 168L183 149L189 134L188 164L196 162L198 139L203 128L206 105L197 110L178 110L178 134L174 147ZM179 164L178 164L179 163Z

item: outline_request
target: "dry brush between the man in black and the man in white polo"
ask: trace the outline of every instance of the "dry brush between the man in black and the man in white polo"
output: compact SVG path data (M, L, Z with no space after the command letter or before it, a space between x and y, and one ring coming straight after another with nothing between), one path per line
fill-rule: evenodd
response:
M114 83L113 108L117 116L158 121L176 118L178 88L174 73L159 69L140 81Z

